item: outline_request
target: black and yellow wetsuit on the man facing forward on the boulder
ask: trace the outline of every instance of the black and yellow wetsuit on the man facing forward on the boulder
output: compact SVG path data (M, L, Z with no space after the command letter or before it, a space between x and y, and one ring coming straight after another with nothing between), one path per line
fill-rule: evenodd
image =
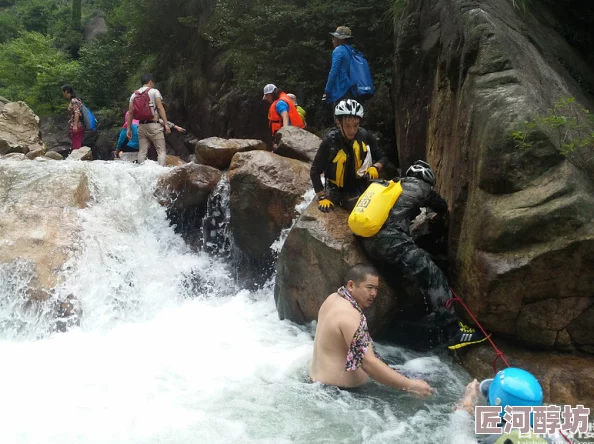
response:
M371 152L372 163L388 163L388 157L367 130L359 128L352 141L345 140L338 128L331 130L322 140L311 165L310 176L315 192L324 190L320 179L324 173L326 197L336 205L352 209L368 185L366 178L357 176L368 151Z

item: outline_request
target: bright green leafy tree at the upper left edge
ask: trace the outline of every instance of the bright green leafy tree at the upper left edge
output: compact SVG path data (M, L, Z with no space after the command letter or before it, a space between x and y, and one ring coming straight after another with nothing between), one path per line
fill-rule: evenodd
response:
M40 114L65 107L60 87L74 83L78 63L37 32L25 32L0 45L0 95L23 100Z

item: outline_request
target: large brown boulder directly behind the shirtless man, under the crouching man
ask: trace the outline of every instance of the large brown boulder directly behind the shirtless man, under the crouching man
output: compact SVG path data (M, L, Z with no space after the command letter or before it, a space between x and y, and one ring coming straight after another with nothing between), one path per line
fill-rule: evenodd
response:
M314 200L289 232L276 264L274 299L281 319L317 320L324 300L344 284L347 269L368 262L347 219L342 208L320 212ZM378 296L365 312L373 336L386 332L396 308L396 298L380 279Z

